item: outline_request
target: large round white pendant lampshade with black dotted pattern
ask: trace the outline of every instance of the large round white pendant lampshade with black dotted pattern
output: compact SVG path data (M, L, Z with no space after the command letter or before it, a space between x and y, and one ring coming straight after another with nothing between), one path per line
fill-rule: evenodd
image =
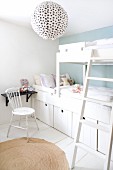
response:
M55 40L62 36L68 26L68 15L57 3L42 2L31 17L33 30L43 39Z

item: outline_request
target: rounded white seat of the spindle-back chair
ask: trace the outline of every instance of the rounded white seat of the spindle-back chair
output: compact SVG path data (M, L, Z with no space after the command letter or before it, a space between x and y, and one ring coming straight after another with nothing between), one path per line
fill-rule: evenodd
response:
M33 108L19 107L12 111L14 115L32 115L35 112Z

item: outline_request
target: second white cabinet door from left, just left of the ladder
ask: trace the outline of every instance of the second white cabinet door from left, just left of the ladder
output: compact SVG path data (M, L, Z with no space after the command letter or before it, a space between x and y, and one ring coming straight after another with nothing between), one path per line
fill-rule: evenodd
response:
M54 107L54 128L71 136L72 112Z

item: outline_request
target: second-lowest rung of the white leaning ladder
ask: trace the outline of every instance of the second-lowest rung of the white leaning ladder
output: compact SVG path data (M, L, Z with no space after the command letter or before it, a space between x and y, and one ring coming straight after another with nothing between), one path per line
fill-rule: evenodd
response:
M101 126L99 124L96 124L96 123L93 123L91 121L88 121L88 120L85 120L85 119L81 119L80 120L80 123L83 123L83 124L86 124L88 126L91 126L93 128L96 128L96 129L99 129L99 130L102 130L102 131L105 131L105 132L109 132L110 131L110 127L108 125L108 127L106 126Z

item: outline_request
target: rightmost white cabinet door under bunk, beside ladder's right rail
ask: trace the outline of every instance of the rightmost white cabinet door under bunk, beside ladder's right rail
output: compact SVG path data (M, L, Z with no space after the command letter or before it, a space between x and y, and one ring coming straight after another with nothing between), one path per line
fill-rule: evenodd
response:
M102 122L99 122L100 125L108 126ZM98 131L98 151L106 154L108 147L108 133L103 131ZM113 160L113 145L112 145L112 154L111 160Z

